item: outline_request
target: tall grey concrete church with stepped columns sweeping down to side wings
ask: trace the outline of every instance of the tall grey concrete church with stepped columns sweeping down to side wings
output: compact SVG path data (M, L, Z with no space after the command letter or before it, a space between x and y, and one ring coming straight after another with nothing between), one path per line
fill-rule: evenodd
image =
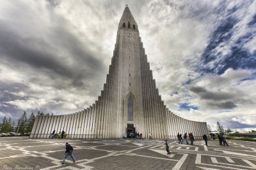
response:
M148 138L177 138L193 132L209 136L205 122L186 120L168 110L156 89L138 25L128 7L118 25L116 45L104 89L89 108L77 113L36 117L30 138L49 138L52 131L68 138L122 138L140 132Z

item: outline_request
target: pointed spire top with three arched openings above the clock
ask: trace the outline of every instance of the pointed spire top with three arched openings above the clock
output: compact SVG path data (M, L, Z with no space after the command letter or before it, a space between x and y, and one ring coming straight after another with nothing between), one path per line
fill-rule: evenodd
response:
M136 20L134 20L134 17L132 16L132 13L127 4L125 5L123 15L120 19L119 28L120 29L131 29L132 31L138 31L138 25L136 23Z

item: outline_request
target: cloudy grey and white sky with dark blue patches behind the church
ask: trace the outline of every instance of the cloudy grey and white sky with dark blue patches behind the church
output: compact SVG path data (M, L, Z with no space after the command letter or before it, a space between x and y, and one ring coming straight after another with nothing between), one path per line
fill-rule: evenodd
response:
M256 1L1 1L0 121L95 102L125 4L164 104L176 115L256 129Z

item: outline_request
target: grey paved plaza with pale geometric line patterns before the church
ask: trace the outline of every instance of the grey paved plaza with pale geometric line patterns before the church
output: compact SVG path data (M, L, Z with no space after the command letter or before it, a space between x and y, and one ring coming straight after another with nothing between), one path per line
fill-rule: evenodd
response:
M61 164L65 143L74 148ZM179 145L148 139L29 139L0 138L0 169L256 169L256 143L228 140Z

